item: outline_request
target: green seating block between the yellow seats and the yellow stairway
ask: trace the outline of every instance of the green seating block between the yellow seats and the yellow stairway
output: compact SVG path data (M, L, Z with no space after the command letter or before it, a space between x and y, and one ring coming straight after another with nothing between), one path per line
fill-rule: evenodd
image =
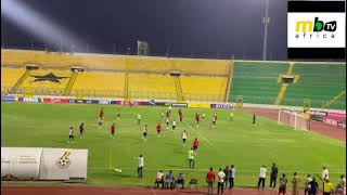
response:
M287 69L287 63L235 62L229 100L242 95L245 103L273 104L281 88L278 76Z

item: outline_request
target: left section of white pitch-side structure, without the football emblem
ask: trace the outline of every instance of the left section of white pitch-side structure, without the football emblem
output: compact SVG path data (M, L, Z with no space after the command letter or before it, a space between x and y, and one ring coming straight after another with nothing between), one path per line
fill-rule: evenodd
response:
M1 147L2 180L38 180L42 148Z

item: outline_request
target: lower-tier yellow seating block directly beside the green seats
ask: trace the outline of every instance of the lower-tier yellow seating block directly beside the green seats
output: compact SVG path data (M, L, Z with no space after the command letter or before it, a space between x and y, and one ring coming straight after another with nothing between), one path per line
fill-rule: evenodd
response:
M181 76L183 96L189 101L224 101L228 77Z

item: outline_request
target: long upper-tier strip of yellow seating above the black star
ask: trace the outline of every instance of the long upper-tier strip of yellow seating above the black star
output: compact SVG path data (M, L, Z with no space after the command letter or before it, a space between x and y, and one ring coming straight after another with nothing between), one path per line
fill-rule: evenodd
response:
M79 65L87 69L99 70L154 72L163 74L168 74L170 70L179 70L182 74L227 76L231 61L1 50L2 65L25 65L27 63L38 64L42 67L69 68L73 65Z

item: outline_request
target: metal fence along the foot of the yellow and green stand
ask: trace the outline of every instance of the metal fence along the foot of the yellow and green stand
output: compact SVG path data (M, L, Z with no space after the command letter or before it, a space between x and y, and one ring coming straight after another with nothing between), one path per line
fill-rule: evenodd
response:
M65 89L49 89L49 88L13 88L1 87L1 95L5 94L23 94L23 95L64 95ZM125 98L125 92L120 90L94 90L94 89L72 89L70 96L76 98ZM129 91L129 99L146 99L146 100L177 100L176 92L157 92L157 91ZM224 95L221 94L208 94L208 93L183 93L185 101L198 101L198 102L224 102ZM275 98L267 96L243 96L243 103L253 104L273 104ZM290 106L304 106L306 99L285 99L281 102L281 105ZM309 100L311 107L322 107L326 101ZM230 102L236 102L236 96L230 98ZM326 108L346 109L346 102L338 100L333 102Z

